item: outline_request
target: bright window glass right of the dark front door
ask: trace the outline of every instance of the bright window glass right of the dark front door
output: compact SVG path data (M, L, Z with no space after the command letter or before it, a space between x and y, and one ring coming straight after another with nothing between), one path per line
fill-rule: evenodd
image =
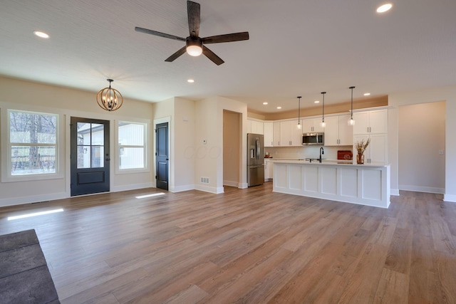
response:
M145 169L145 127L138 122L118 123L119 169Z

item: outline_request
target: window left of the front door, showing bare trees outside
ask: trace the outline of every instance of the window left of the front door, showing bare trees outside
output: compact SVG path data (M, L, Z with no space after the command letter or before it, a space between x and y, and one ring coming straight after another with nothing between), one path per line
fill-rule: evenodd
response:
M55 174L58 115L9 110L11 176Z

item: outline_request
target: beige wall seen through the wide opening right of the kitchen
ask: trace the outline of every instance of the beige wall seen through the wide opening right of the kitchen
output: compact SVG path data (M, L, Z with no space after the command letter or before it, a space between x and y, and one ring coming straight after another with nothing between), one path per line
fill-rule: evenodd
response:
M399 107L399 189L445 192L445 102Z

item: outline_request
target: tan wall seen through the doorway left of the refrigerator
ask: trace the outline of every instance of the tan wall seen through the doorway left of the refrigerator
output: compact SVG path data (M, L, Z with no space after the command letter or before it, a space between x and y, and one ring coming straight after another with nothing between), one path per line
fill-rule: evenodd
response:
M223 111L223 184L237 187L239 184L239 113Z

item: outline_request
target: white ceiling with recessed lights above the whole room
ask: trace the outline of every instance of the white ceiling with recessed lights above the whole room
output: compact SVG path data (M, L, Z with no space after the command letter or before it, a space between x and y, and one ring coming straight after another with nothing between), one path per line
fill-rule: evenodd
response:
M198 0L196 0L198 1ZM126 98L226 96L264 113L456 84L456 1L199 0L202 37L249 31L249 41L207 45L225 63L187 54L185 0L1 1L0 74ZM41 30L51 38L33 35ZM195 83L187 83L194 78ZM94 97L95 98L95 97ZM264 101L269 105L264 106ZM125 106L125 105L124 105Z

